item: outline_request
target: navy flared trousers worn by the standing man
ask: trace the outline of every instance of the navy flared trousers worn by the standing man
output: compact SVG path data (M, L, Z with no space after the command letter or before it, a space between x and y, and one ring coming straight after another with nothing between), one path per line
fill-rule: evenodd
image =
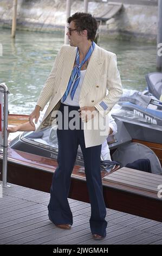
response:
M64 105L61 103L60 111L64 120ZM68 106L70 111L78 110L79 107ZM66 112L67 115L67 112ZM68 118L68 120L72 120ZM64 125L64 121L63 121ZM70 188L70 176L76 160L78 146L80 145L85 162L85 174L89 193L91 216L90 230L92 234L106 236L107 222L106 207L102 193L102 181L100 171L101 145L86 148L82 122L80 129L57 129L59 153L57 157L57 169L53 175L50 188L50 202L48 205L49 218L54 224L73 224L73 215L68 203Z

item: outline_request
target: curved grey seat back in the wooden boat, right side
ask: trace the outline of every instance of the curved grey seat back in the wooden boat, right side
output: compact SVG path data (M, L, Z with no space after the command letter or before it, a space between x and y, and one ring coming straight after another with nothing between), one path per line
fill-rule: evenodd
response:
M125 167L127 163L132 163L138 159L149 159L151 163L151 172L153 174L162 174L161 164L157 155L152 149L140 143L129 143L121 145L112 154L112 159L118 161L121 167Z

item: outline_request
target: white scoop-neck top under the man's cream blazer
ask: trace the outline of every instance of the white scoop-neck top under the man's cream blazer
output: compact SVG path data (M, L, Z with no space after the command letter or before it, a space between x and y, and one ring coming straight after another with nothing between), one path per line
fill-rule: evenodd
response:
M70 92L69 92L69 94L68 94L66 100L65 100L64 102L62 102L62 101L63 101L63 100L62 100L63 98L61 99L61 102L62 102L63 104L70 105L70 106L78 106L78 107L79 107L79 95L80 95L80 91L81 91L81 87L82 87L83 80L84 80L85 75L86 75L86 71L87 71L87 70L81 70L81 71L80 71L80 81L79 81L79 84L78 84L78 86L77 86L77 88L76 88L76 91L75 91L73 100L72 100L71 97L70 97L70 93L71 93L72 88L73 88L73 84L72 84L72 86L71 86L71 88L70 88Z

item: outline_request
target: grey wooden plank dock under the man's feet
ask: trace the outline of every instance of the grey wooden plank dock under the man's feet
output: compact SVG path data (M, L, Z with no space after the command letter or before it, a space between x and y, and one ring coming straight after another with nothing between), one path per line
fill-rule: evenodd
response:
M93 240L89 229L90 205L73 199L69 199L74 220L72 229L56 228L48 220L48 202L49 193L46 192L17 185L3 188L0 244L162 244L161 222L111 209L107 209L106 238Z

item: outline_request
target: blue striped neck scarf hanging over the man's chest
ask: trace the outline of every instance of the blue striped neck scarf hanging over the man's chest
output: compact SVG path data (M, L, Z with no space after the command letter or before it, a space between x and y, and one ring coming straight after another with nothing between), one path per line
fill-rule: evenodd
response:
M85 62L87 62L87 60L89 59L89 57L91 56L93 50L94 50L94 47L95 47L95 43L92 42L92 45L90 46L87 54L86 54L86 57L82 60L81 63L79 63L79 49L77 48L77 52L76 52L76 66L74 66L73 70L72 70L72 75L70 76L70 80L69 80L69 83L68 83L68 87L66 89L66 92L64 93L63 95L63 99L62 99L62 102L64 102L70 92L70 88L72 87L72 91L70 93L70 97L71 99L73 100L73 97L74 97L74 94L76 92L76 88L79 84L79 81L80 81L80 70L81 70L81 67L83 64L85 64Z

